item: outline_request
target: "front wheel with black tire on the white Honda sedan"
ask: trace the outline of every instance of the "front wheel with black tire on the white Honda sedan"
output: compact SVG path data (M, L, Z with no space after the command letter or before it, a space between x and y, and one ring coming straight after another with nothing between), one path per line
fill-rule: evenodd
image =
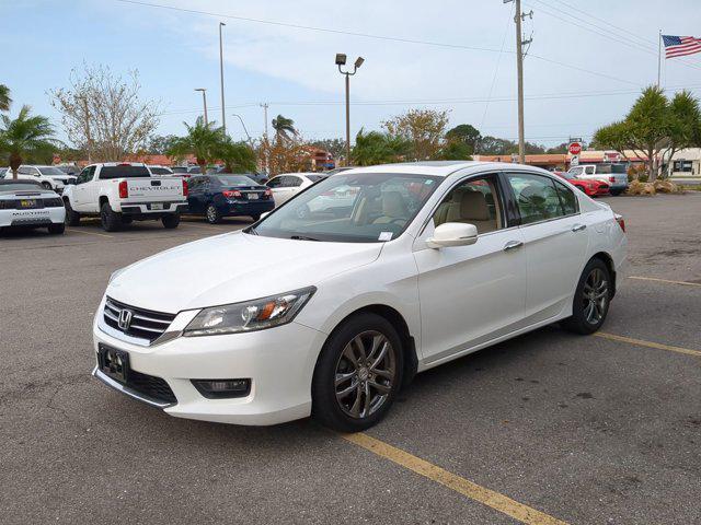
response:
M366 350L371 350L375 338L384 338L389 343L383 354L384 343L375 351L375 358L383 355L381 361L377 360L375 368L368 364L374 361L370 352L365 352L364 359L363 353L355 350L358 347L350 346L358 338ZM345 351L348 349L358 358L355 366L346 358ZM321 350L311 386L312 417L340 432L360 432L372 427L386 416L394 401L402 384L403 364L402 341L392 324L371 313L354 315L329 336ZM338 371L347 378L336 385ZM336 393L336 388L341 392ZM344 390L349 394L344 396ZM367 393L370 393L368 402ZM376 396L375 399L372 396ZM356 404L358 413L353 416Z

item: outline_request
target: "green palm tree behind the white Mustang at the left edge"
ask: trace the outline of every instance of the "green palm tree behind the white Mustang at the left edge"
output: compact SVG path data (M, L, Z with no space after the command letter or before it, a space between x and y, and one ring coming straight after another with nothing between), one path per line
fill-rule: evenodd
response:
M14 120L0 115L0 152L10 156L13 178L18 177L18 168L25 158L46 154L58 144L48 118L30 116L30 106L22 106Z

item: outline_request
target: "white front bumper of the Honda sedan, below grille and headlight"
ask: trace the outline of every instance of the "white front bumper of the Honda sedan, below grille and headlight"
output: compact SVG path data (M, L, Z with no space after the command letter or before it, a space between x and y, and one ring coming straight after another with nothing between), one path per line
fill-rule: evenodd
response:
M290 323L246 334L177 337L143 347L103 331L101 317L102 306L93 326L95 354L100 343L128 352L130 370L164 380L177 402L152 402L100 370L93 371L97 378L129 397L174 417L221 423L276 424L311 413L312 375L326 339L318 330ZM208 399L191 382L227 378L250 378L250 394Z

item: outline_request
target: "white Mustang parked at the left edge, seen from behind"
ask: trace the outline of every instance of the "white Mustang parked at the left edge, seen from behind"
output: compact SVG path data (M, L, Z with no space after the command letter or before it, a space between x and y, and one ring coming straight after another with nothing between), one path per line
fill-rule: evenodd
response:
M64 201L53 189L35 180L0 180L0 231L7 228L47 228L61 234L66 229Z

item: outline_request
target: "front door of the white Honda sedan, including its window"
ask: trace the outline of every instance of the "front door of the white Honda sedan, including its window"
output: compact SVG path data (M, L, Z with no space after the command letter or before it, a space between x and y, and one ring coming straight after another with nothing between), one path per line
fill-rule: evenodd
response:
M470 246L427 248L446 222L478 228ZM448 359L521 326L526 259L518 228L507 223L496 174L470 177L449 190L414 244L418 268L422 355Z

